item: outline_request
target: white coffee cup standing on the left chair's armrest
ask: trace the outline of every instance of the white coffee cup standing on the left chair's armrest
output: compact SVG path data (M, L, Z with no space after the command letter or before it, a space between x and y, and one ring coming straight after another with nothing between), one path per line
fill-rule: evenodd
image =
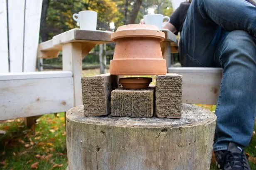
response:
M80 29L96 30L97 12L95 11L80 11L78 14L73 14L73 19L79 22Z

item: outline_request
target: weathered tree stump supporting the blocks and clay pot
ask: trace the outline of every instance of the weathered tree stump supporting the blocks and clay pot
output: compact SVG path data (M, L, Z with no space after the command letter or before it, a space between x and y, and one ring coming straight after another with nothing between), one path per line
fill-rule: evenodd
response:
M66 113L69 170L207 170L216 116L182 104L181 119Z

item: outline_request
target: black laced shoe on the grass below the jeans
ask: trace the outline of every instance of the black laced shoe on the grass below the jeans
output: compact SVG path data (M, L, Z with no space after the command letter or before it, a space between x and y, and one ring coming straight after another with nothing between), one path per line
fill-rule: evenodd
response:
M228 150L216 151L214 154L219 170L251 170L244 150L238 144L230 142Z

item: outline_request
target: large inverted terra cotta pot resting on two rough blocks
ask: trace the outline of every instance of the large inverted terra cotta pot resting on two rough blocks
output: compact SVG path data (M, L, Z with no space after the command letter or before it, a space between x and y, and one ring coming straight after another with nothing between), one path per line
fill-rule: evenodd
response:
M157 26L130 24L118 27L111 40L116 42L112 75L165 75L166 62L162 58L160 41L165 34Z

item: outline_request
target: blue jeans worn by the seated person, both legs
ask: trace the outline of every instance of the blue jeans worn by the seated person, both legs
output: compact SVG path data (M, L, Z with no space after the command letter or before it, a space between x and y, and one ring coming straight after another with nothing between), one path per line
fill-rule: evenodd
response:
M181 37L185 67L222 67L214 151L247 146L256 115L256 7L245 0L192 0Z

